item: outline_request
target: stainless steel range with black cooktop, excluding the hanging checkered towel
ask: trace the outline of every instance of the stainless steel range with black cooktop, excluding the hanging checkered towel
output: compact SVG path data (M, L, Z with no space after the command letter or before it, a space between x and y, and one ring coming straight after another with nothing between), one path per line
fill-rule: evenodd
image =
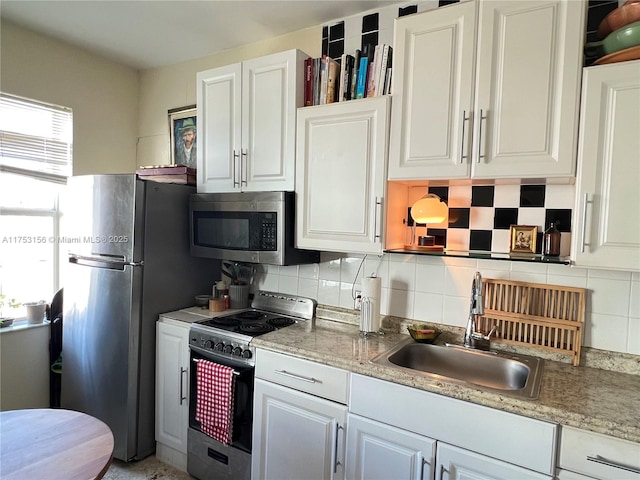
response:
M233 436L223 444L202 432L196 420L196 368L191 368L187 470L201 480L251 478L251 428L255 348L251 340L297 322L313 321L317 302L275 292L255 293L251 308L193 323L191 362L208 360L234 369Z

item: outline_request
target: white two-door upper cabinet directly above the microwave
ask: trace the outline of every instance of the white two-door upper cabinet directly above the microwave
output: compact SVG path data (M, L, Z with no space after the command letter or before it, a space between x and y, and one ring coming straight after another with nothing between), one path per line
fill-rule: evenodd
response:
M293 191L299 50L197 74L198 192Z

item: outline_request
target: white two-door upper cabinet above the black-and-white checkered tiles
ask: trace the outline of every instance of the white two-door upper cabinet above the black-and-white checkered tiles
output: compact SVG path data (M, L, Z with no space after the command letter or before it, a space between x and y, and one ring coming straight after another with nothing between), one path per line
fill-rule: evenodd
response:
M573 176L585 4L479 0L397 20L389 179Z

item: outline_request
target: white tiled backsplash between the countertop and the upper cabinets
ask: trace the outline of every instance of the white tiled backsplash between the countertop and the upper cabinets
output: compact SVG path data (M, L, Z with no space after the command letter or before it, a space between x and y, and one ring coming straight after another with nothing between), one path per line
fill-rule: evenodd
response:
M464 327L471 281L486 278L586 288L584 345L640 355L640 273L618 272L506 260L476 260L423 255L323 253L319 264L263 266L254 290L315 298L319 303L353 308L352 289L364 276L382 278L385 315Z

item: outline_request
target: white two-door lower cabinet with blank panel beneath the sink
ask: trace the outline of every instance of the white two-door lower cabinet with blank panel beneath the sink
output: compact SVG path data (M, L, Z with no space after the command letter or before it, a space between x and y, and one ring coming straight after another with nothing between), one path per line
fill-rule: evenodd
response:
M555 424L358 374L347 431L349 479L551 479L555 471ZM399 470L363 476L365 460Z

